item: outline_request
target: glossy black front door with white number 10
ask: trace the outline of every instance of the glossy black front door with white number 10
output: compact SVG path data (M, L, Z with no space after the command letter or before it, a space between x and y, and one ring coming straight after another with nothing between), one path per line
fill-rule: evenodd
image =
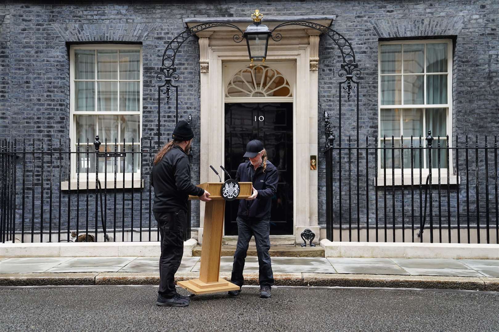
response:
M277 167L279 182L272 198L270 234L293 233L293 104L225 104L225 168L236 177L245 162L246 144L259 139L268 160ZM227 177L228 178L228 177ZM237 235L239 201L227 202L225 234Z

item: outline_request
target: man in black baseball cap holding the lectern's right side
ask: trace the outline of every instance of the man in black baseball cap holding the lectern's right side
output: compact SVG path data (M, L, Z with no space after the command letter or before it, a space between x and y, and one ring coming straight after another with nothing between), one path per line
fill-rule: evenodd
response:
M260 297L270 297L270 287L274 284L272 265L268 250L270 249L270 209L271 198L277 192L277 168L267 160L267 152L263 144L253 139L246 146L244 157L250 160L238 167L236 181L252 182L252 195L239 201L238 245L234 253L231 282L243 286L243 269L251 236L254 235L258 254L258 280ZM241 289L230 291L230 296L237 296Z

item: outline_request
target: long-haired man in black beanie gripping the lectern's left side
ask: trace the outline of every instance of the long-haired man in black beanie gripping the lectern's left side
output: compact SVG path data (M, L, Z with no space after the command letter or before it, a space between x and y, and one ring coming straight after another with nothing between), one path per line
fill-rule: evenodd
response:
M185 307L189 298L177 293L175 273L184 254L184 232L187 227L189 195L211 201L210 193L191 183L188 153L194 132L186 120L180 120L173 130L172 140L154 157L151 185L154 187L154 218L161 234L159 260L160 285L158 306Z

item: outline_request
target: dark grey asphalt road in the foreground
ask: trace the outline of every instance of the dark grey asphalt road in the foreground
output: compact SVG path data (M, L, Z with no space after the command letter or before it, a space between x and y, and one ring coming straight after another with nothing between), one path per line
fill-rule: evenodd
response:
M499 293L276 287L260 299L244 287L171 308L157 290L1 288L0 331L499 331Z

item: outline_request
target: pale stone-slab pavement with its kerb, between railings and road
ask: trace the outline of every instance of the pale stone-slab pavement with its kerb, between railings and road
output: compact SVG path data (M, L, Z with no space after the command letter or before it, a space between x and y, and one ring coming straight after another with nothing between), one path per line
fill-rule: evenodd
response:
M230 280L233 257L221 257ZM176 280L199 278L200 257L184 257ZM272 257L276 285L408 287L499 291L499 260ZM258 284L257 257L246 283ZM0 258L0 286L159 284L159 257Z

